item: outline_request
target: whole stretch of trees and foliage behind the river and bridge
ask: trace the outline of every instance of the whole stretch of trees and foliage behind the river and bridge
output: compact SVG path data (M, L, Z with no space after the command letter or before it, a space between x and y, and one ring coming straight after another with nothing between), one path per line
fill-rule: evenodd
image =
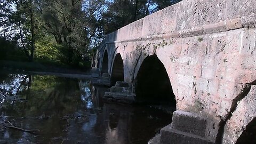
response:
M3 44L0 59L90 66L105 34L179 1L0 0L0 35L16 42Z

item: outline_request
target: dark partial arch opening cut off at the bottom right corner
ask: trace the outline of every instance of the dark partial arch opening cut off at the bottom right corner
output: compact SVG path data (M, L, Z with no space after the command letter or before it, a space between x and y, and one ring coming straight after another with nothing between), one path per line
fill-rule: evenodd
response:
M256 118L254 118L247 126L244 132L240 135L236 144L251 144L256 143Z

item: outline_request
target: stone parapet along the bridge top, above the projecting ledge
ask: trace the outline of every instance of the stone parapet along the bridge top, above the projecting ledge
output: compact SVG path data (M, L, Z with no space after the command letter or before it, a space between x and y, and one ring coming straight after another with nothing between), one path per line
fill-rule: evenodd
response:
M132 22L106 36L102 44L155 37L179 38L255 27L255 1L184 0Z

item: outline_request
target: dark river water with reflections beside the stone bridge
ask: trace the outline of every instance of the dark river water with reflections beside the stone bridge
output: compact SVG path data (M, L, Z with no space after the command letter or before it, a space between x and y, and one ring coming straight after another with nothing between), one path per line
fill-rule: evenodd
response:
M0 143L147 143L171 123L150 106L104 103L107 90L81 79L1 74Z

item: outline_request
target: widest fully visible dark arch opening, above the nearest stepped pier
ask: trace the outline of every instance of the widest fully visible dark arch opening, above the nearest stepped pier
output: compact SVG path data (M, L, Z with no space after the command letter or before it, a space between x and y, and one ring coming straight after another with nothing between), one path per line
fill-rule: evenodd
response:
M137 74L135 93L139 102L176 106L169 76L157 55L143 60Z

